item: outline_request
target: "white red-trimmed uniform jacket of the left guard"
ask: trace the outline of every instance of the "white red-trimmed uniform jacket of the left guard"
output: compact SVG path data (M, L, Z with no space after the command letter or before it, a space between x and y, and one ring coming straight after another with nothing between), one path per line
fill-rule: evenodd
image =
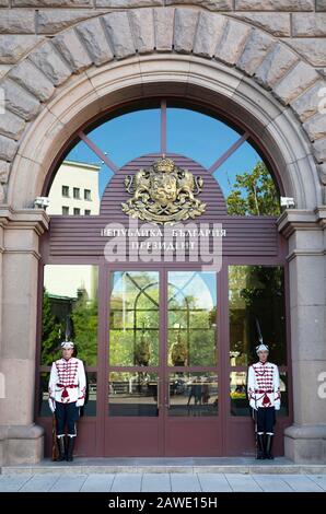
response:
M54 362L48 389L51 400L60 404L78 401L79 407L83 406L86 377L82 361L71 357L68 361L59 359Z

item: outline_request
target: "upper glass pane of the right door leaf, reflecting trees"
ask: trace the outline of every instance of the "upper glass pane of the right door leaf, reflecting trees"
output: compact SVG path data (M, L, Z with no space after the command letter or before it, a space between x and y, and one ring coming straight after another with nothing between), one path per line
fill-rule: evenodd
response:
M168 272L168 365L217 363L216 273Z

